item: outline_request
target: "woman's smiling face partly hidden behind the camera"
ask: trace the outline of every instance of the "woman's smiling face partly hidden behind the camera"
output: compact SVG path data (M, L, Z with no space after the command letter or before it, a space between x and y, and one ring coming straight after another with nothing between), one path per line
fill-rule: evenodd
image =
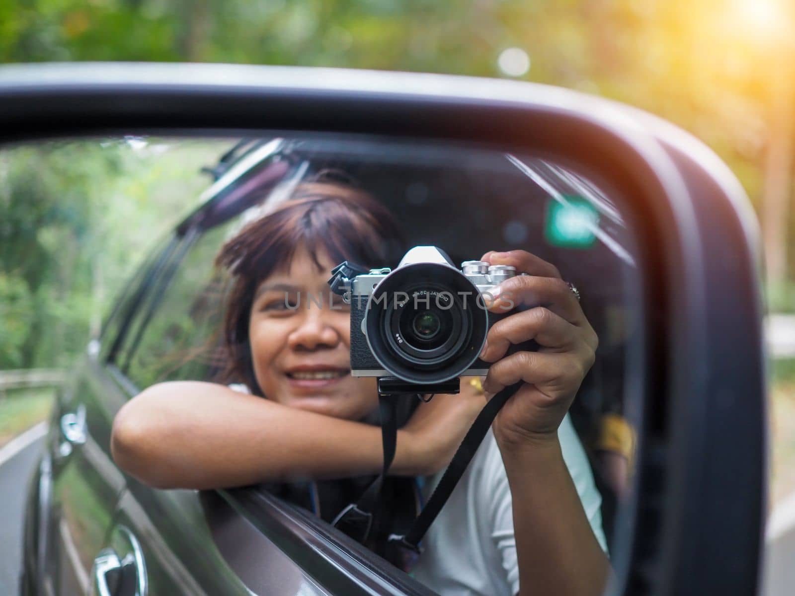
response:
M270 400L360 420L378 404L375 379L351 377L351 309L328 288L338 263L318 257L320 270L300 249L260 284L249 319L254 374Z

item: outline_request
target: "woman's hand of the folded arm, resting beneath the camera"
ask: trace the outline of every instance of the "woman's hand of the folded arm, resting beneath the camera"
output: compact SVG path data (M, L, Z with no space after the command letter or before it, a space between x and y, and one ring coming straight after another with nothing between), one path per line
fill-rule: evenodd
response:
M437 394L431 401L420 404L411 420L398 432L398 453L405 441L406 457L401 467L415 474L435 474L443 470L456 454L463 435L471 427L486 405L486 397L470 381L477 377L461 377L457 394Z

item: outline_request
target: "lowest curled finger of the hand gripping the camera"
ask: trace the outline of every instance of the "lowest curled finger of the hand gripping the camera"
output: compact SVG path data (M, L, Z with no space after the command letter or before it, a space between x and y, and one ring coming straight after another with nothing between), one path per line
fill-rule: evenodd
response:
M592 364L592 352L590 358L571 353L517 352L491 365L483 389L494 395L508 385L525 381L554 401L560 395L576 393Z

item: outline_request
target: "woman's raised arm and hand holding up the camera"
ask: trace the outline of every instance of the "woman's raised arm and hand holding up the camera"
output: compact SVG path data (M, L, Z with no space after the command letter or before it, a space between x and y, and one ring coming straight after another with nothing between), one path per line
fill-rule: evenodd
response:
M520 594L602 594L610 573L563 459L557 430L591 368L598 339L557 269L522 250L487 253L526 277L501 284L501 304L525 304L489 331L481 358L493 362L483 389L491 397L523 381L494 420L494 437L512 494ZM506 356L534 339L537 351ZM526 586L526 587L522 587Z

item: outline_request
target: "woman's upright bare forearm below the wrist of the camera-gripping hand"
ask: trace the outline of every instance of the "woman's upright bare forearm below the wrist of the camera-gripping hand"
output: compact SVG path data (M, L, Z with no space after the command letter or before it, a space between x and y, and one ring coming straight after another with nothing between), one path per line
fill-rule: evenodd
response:
M521 586L527 593L598 596L610 563L588 522L558 440L501 444Z

